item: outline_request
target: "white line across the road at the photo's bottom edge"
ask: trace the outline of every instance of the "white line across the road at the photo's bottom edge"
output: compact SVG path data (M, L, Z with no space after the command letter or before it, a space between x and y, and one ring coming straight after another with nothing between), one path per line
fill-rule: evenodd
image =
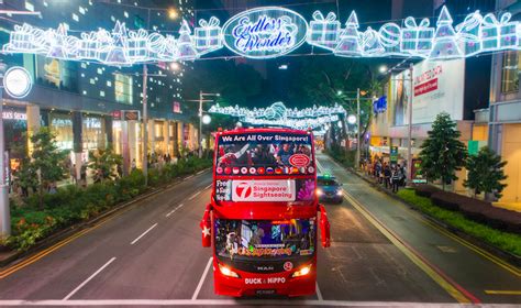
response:
M299 300L299 299L7 299L0 306L332 306L332 307L462 307L453 302L411 301L350 301L350 300ZM494 304L494 307L516 307L511 304ZM479 305L487 307L487 305Z

